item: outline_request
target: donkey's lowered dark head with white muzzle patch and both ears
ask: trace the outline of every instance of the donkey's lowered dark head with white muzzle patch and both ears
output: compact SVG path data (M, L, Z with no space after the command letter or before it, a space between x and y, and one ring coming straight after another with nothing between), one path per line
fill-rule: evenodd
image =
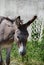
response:
M15 29L15 35L14 39L18 45L19 53L24 56L26 54L26 42L27 38L29 36L27 27L37 18L37 16L34 16L30 21L23 24L20 16L16 18L16 29Z

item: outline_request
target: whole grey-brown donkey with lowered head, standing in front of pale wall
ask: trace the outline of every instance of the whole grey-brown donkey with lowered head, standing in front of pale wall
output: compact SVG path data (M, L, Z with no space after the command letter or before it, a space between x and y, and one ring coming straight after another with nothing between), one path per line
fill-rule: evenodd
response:
M10 51L15 41L21 56L26 54L26 42L29 36L27 27L37 18L35 15L27 23L23 24L20 16L15 19L1 17L0 19L0 65L3 65L2 48L6 48L6 64L10 64Z

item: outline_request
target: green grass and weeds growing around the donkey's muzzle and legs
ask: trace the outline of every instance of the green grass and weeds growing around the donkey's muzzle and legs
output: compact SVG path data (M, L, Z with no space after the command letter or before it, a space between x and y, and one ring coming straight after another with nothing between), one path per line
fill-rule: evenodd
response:
M11 64L13 65L44 65L44 44L42 42L28 41L26 46L26 56L23 59L18 53L17 45L14 43L11 50ZM2 50L3 59L6 58L6 50ZM15 61L16 60L16 61ZM14 63L15 62L15 63Z

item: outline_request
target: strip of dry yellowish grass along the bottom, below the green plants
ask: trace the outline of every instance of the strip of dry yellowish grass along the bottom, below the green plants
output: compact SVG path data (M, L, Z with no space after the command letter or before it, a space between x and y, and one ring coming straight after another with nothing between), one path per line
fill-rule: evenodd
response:
M13 59L11 60L10 65L44 65L44 62L35 61L35 60L21 62Z

